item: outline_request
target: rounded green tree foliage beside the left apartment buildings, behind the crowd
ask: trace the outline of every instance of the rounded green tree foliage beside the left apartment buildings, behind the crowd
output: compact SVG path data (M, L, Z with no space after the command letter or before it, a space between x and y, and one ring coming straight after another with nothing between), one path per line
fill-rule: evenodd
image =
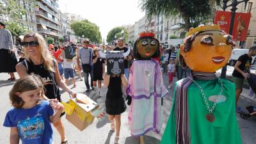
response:
M76 36L82 37L84 35L84 38L89 38L92 42L102 43L99 26L89 20L74 21L71 24L71 29Z

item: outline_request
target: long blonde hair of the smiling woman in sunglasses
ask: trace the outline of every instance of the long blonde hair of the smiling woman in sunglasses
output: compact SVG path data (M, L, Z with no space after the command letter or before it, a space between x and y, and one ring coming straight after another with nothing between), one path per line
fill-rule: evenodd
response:
M49 51L49 49L47 48L47 45L46 45L46 42L44 40L44 37L42 35L40 35L39 33L35 33L35 32L30 32L28 34L26 34L23 38L23 41L26 39L26 38L29 38L29 37L33 37L35 38L35 40L38 42L39 44L39 47L40 47L40 51L41 51L41 56L43 58L43 61L44 61L44 68L46 70L49 70L51 72L54 72L54 68L53 68L53 61L54 61L54 58L52 57L52 54L51 52ZM27 49L24 49L24 54L25 54L25 58L26 60L30 61L29 60L29 52L27 51Z

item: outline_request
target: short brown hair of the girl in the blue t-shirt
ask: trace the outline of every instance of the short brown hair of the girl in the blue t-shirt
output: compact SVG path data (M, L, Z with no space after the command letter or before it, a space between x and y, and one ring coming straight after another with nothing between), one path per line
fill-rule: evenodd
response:
M12 87L9 93L11 104L14 108L21 108L24 105L24 101L16 95L17 92L28 92L30 90L36 90L38 88L44 88L42 78L37 75L29 75L20 78Z

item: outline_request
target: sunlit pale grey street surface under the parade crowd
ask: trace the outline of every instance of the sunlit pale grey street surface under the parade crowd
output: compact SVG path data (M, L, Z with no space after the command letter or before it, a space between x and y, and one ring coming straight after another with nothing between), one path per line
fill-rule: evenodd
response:
M230 71L230 68L228 68L227 71ZM17 76L17 74L15 74ZM7 127L3 127L4 122L4 116L6 115L6 112L11 108L9 96L8 93L10 92L13 83L11 81L6 81L8 79L8 74L0 73L0 96L1 96L1 102L0 102L0 109L1 109L1 115L0 115L0 143L9 143L9 136L10 136L10 129ZM163 75L164 79L164 85L166 88L168 87L168 76L166 74ZM174 81L177 81L176 77ZM70 87L72 84L70 83ZM77 81L76 88L73 89L77 93L85 93L85 84L84 81ZM163 135L166 122L168 120L168 117L170 115L170 108L172 106L172 93L173 88L169 89L168 97L164 97L163 100L163 113L164 113L164 124L161 129L160 134L155 134L154 132L149 132L147 136L145 136L145 143L147 144L158 144L161 141L161 136ZM63 92L63 91L61 91ZM106 90L104 91L106 92ZM255 105L256 102L253 98L247 96L248 89L243 90L243 93L241 94L241 97L239 99L239 106L243 107L245 109L245 106ZM66 102L69 97L68 93L63 93L61 95L62 100ZM89 97L98 102L100 105L100 108L104 109L104 102L106 97L100 97L98 98L93 92L90 92ZM235 109L234 109L235 110ZM127 115L128 115L129 107L127 107L127 110L125 113L122 114L121 118L121 132L120 132L120 143L122 144L134 144L138 141L136 138L132 138L129 130ZM65 132L67 134L67 140L69 144L109 144L113 143L115 138L115 132L110 131L110 122L108 121L107 117L105 116L102 121L98 121L96 118L92 125L90 125L88 128L84 129L84 131L79 131L74 127L72 124L70 124L66 119L65 116L62 118L63 123L65 124ZM239 129L241 130L241 136L243 139L243 144L253 144L256 140L256 117L252 116L246 120L241 118L239 114L237 114L237 121L239 122ZM54 143L60 143L60 136L56 129L54 129Z

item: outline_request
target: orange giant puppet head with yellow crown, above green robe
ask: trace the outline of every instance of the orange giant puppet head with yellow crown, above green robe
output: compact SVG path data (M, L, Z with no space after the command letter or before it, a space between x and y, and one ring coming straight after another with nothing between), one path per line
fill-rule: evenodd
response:
M232 36L221 31L220 26L198 26L186 36L180 46L182 65L195 72L216 72L226 65L232 51Z

